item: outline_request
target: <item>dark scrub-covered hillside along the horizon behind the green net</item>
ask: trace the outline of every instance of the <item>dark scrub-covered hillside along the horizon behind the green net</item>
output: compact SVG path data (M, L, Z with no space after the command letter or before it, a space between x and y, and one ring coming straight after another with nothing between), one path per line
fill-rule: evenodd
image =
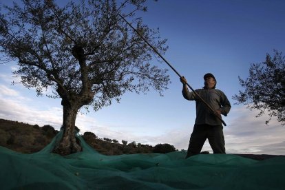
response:
M39 125L29 125L18 121L0 119L0 146L24 154L32 154L48 145L58 132L59 131L56 131L54 127L50 125L39 127ZM176 150L173 145L169 144L158 144L154 147L151 145L141 145L140 143L137 144L136 142L127 144L127 141L125 141L124 144L120 144L116 139L98 138L92 132L85 132L82 137L88 145L96 149L99 153L107 156L149 153L165 154ZM277 157L276 155L264 154L236 155L255 160Z

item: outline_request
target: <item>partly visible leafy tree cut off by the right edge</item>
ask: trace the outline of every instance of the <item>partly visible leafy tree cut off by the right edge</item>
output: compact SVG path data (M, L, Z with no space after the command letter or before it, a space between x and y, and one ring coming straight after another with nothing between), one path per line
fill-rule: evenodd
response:
M233 99L249 109L260 110L257 117L267 111L269 119L266 124L276 116L285 125L285 57L282 52L274 52L273 58L266 54L265 62L251 65L249 78L242 80L239 76L244 91L233 96Z

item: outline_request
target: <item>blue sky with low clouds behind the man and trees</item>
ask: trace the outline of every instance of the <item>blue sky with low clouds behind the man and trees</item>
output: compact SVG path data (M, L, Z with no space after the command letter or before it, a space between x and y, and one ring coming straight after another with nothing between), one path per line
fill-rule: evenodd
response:
M257 110L236 105L232 98L242 89L238 76L248 77L251 64L262 63L273 50L285 52L285 1L160 0L148 1L147 6L148 11L140 16L167 39L165 59L193 89L201 88L204 74L211 72L217 89L229 98L231 112L223 117L226 152L285 155L285 126L277 118L266 125L267 115L256 118ZM153 64L167 67L156 60ZM19 81L12 77L14 70L15 63L0 65L0 118L52 125L59 130L61 100L38 97L34 89L11 85ZM147 94L127 92L120 103L114 101L98 112L82 110L76 119L81 134L92 131L99 138L148 145L169 143L187 150L195 122L195 102L183 98L176 73L169 68L168 74L171 84L164 96L154 90ZM208 141L202 151L212 152Z

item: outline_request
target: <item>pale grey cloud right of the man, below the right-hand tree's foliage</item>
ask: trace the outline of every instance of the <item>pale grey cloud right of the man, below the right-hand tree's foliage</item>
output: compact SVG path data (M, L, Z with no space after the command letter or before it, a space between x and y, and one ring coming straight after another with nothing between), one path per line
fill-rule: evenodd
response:
M232 110L229 126L224 128L226 147L231 153L241 154L284 154L282 141L285 127L272 118L269 125L265 124L268 116L256 118L257 111L249 111L246 107Z

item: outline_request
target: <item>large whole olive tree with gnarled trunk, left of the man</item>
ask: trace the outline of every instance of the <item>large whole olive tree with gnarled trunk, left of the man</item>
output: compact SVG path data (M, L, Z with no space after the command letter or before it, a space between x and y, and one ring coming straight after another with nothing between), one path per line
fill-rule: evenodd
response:
M22 0L1 9L1 62L17 61L14 75L38 96L51 88L48 96L61 98L63 138L54 153L82 150L74 135L81 107L98 110L127 91L145 93L151 87L161 94L167 89L167 70L151 66L156 54L118 15L164 54L166 40L136 18L136 12L147 10L144 3L83 0L59 7L53 0Z

